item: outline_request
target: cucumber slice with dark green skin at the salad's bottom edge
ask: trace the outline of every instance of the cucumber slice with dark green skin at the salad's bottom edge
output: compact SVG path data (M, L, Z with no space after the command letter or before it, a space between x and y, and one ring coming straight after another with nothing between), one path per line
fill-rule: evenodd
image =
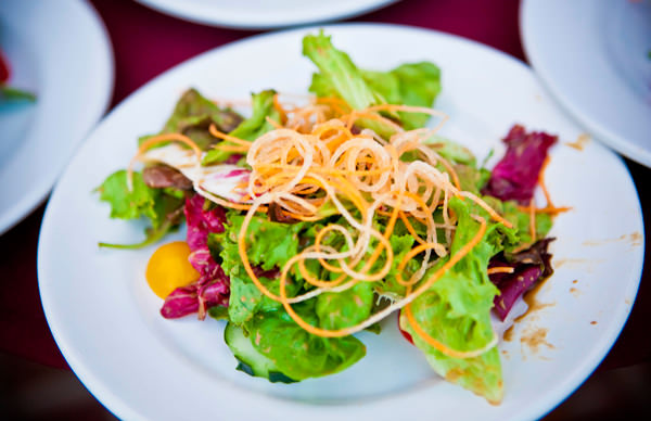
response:
M224 331L224 340L238 361L238 370L256 378L265 378L271 383L295 383L278 370L276 363L260 354L251 343L251 337L244 334L242 328L228 323Z

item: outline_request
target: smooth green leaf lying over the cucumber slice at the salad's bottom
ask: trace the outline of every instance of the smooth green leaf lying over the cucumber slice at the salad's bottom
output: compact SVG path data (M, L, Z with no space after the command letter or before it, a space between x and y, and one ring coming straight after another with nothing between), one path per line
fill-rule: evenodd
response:
M294 306L308 323L318 326L314 299ZM301 328L284 309L258 312L245 326L253 346L293 380L334 374L366 355L354 336L320 337Z

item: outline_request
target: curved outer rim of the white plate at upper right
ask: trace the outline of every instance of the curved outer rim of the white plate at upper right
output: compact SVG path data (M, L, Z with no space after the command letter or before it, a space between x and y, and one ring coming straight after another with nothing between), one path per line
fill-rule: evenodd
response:
M570 95L565 94L562 89L554 84L554 78L549 74L546 66L541 65L538 54L533 52L535 51L535 48L531 41L532 34L527 30L527 27L531 26L526 22L533 18L531 17L532 14L527 13L527 11L531 10L529 8L532 8L534 1L536 0L522 1L518 21L520 27L520 39L522 40L524 54L527 61L532 64L532 68L540 80L542 87L551 93L553 100L556 100L559 106L570 117L572 117L580 127L591 132L596 139L614 150L616 153L625 155L627 158L646 167L651 167L651 146L644 149L636 145L635 143L627 141L623 136L618 135L613 128L590 117L590 115L586 114L578 104L572 101Z

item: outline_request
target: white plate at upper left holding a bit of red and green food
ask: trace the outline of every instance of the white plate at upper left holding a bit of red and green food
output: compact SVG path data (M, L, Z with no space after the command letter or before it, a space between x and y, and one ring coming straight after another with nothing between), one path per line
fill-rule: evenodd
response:
M10 85L34 104L0 103L0 234L48 194L113 91L113 53L86 2L3 0L0 44Z

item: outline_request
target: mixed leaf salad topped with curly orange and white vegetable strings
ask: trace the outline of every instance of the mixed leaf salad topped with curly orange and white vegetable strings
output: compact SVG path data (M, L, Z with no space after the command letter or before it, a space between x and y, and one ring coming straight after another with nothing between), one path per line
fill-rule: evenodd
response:
M437 135L447 117L430 109L441 89L434 64L369 72L322 34L303 47L319 68L307 104L263 91L244 119L186 92L164 130L99 188L112 217L151 220L148 238L103 245L152 244L184 216L195 272L178 256L157 263L188 253L166 246L148 281L158 294L178 286L166 318L226 319L227 345L252 375L295 382L344 370L366 354L353 334L379 332L399 311L438 374L499 403L490 311L503 319L551 275L546 235L564 208L544 183L546 207L533 194L556 137L514 126L490 173Z

